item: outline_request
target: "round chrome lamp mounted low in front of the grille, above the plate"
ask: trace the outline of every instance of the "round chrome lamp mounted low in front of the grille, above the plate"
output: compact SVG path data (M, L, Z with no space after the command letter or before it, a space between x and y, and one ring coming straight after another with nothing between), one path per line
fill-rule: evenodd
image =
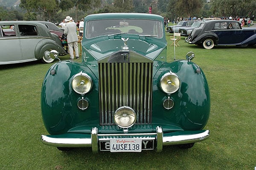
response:
M128 106L119 107L114 114L114 121L119 127L131 127L136 121L135 111Z

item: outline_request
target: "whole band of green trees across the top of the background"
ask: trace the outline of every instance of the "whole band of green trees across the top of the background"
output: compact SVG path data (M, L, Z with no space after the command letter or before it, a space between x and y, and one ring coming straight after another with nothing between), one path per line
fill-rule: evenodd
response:
M250 17L256 14L256 0L211 0L210 3L206 0L20 0L19 7L26 13L3 6L0 19L59 22L68 15L77 20L87 14L103 12L148 13L148 6L152 6L153 14L170 20L176 17Z

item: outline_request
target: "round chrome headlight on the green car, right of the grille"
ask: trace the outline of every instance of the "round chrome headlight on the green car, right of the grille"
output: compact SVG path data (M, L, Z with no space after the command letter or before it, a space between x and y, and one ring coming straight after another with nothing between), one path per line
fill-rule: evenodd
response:
M168 72L161 78L160 86L163 92L172 94L180 88L180 79L176 74Z

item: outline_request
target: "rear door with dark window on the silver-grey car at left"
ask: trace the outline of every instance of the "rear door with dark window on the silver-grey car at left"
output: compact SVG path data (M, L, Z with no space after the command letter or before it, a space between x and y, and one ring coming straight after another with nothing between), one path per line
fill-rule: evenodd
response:
M41 37L38 35L37 26L33 24L19 24L18 29L23 60L36 60L35 47L41 40Z

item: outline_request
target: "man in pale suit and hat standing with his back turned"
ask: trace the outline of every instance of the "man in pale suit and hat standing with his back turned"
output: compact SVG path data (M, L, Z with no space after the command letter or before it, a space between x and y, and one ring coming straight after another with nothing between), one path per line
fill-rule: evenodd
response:
M67 16L65 21L67 22L64 27L64 35L67 36L67 46L70 54L70 59L74 59L73 47L75 49L76 58L79 58L78 51L78 37L76 34L76 23L73 22L72 17Z

